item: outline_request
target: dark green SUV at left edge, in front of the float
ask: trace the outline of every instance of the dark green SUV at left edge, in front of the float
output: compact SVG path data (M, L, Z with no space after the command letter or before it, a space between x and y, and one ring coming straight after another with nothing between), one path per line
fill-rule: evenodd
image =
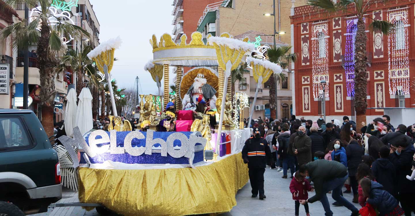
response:
M61 197L58 154L37 116L0 109L0 215L46 212Z

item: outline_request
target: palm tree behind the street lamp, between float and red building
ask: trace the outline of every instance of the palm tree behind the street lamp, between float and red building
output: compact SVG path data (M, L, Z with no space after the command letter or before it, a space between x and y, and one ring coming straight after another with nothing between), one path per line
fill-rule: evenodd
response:
M266 51L268 60L272 63L279 64L281 68L286 69L291 62L297 61L297 53L291 53L291 46L271 47ZM271 109L277 109L277 98L275 84L283 83L287 77L283 73L274 74L269 78L269 104ZM276 116L278 118L278 116Z

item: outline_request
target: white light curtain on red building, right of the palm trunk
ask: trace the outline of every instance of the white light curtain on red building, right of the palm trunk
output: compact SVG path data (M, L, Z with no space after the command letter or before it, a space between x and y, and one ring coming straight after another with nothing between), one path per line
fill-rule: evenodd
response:
M395 28L388 35L389 94L408 95L409 80L409 41L408 8L390 10L388 21ZM401 90L398 90L398 87Z

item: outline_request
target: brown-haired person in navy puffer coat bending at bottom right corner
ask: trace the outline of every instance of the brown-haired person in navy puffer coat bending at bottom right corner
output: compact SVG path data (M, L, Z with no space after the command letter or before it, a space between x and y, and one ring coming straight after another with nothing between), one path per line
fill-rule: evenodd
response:
M360 180L364 196L367 196L367 203L374 206L379 211L379 216L401 216L403 210L398 204L398 200L383 189L382 184L371 181L368 178Z

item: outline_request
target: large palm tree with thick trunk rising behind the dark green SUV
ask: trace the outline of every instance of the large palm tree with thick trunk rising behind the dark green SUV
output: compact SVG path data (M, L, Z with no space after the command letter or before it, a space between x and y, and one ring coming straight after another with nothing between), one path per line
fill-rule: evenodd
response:
M67 23L65 20L54 17L59 22L52 25L49 18L50 0L5 0L5 4L15 8L17 4L25 3L27 7L39 7L38 16L31 17L32 22L26 24L28 20L22 19L2 30L1 37L7 38L13 35L13 46L18 49L27 49L29 44L37 44L37 56L39 62L40 75L40 100L42 125L48 136L53 135L53 109L55 90L54 67L58 64L56 56L59 56L64 47L61 36L78 36L84 34L89 37L89 33L81 27ZM40 32L37 28L40 26Z

